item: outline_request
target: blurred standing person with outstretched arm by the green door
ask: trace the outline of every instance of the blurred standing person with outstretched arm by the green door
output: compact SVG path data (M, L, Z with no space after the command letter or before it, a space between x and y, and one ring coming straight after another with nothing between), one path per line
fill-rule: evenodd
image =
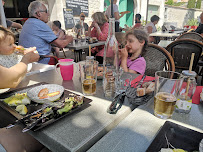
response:
M111 3L111 0L110 0ZM130 11L124 11L124 12L120 12L118 10L118 5L116 4L117 0L113 1L113 12L114 12L114 18L115 18L115 32L120 32L120 18L123 17L125 14L130 13ZM107 18L111 17L111 4L108 6L105 15Z

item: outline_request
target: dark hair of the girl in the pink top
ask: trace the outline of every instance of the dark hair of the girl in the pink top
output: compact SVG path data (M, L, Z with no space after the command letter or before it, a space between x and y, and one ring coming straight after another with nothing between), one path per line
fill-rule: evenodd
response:
M125 35L125 38L127 39L127 37L129 35L135 36L140 43L142 43L143 41L145 42L145 44L143 45L143 48L142 48L142 53L141 53L141 56L143 56L146 52L149 35L147 34L147 32L145 32L144 30L141 30L141 29L134 29L134 30L128 31Z

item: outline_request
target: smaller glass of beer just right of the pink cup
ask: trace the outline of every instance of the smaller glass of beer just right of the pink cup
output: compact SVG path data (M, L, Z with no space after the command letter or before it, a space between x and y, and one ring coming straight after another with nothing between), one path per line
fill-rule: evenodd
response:
M98 61L79 63L82 93L84 95L96 94Z

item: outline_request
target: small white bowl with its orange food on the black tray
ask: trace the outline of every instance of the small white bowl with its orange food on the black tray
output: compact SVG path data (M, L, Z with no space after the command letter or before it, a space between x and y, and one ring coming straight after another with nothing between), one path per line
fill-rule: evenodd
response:
M64 87L57 84L45 84L34 87L27 92L28 97L37 103L54 102L61 97Z

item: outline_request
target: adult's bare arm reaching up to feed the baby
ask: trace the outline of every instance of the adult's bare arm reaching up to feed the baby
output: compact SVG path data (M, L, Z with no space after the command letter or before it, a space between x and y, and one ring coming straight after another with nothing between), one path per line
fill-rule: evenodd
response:
M34 53L36 48L31 48L30 51L23 56L20 63L11 68L0 66L0 88L15 88L23 79L27 72L27 64L38 61L39 54Z

